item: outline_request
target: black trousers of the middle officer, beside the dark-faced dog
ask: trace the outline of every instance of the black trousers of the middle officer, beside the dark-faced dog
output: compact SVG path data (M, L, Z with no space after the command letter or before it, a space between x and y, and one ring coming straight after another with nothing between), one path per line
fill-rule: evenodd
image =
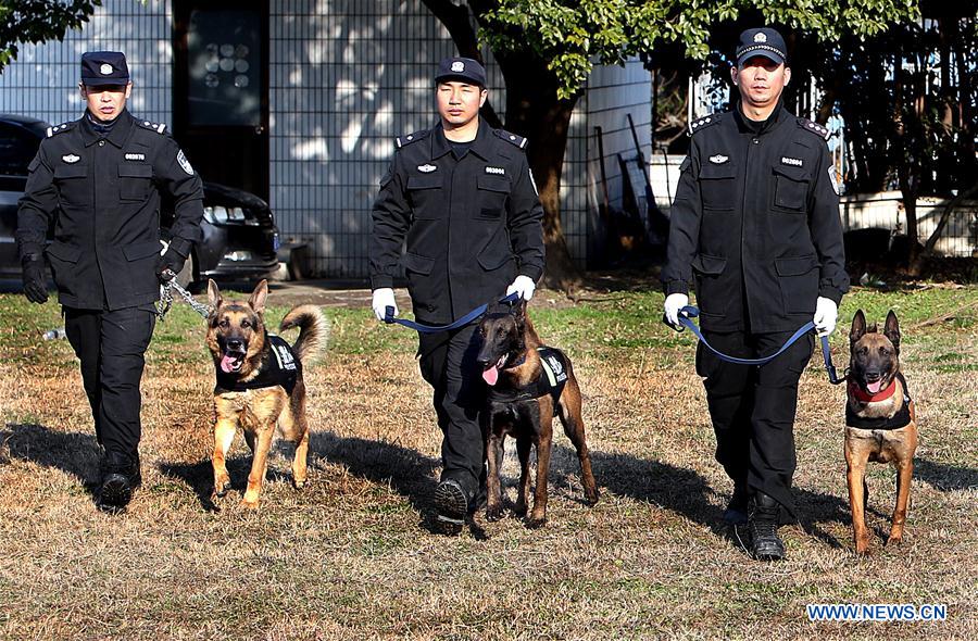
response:
M477 324L452 331L418 335L418 360L434 390L435 413L443 435L441 478L453 478L474 497L486 477L486 447L480 414L486 384L476 362Z

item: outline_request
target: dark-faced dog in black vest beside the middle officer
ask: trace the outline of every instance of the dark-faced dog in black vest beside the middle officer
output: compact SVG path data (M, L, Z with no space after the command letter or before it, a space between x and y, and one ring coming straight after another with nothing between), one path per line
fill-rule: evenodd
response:
M482 367L482 378L489 385L488 411L484 415L484 433L489 463L487 480L488 498L486 517L499 520L502 517L502 487L500 468L506 435L516 439L519 456L519 490L515 512L526 516L527 494L530 489L529 455L530 445L537 450L537 487L534 494L534 510L527 524L540 527L547 521L547 476L550 469L550 449L553 438L553 417L560 416L564 432L577 449L580 461L581 482L589 505L598 502L598 488L591 473L591 458L585 441L585 424L580 413L580 388L570 360L557 350L557 365L549 367L549 375L555 370L557 377L566 374L566 381L560 395L542 389L538 381L548 376L541 362L539 348L543 347L534 324L526 315L526 302L513 305L497 303L479 323L481 348L477 361ZM560 372L563 370L563 372ZM551 379L552 381L552 379ZM544 386L546 387L546 386Z

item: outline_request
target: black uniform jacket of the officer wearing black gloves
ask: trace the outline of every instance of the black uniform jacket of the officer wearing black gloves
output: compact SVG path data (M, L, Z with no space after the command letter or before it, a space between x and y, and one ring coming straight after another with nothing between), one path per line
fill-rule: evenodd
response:
M123 111L106 133L84 115L48 129L29 165L17 214L21 255L47 249L58 300L116 310L160 294L160 193L174 200L172 247L183 255L201 238L203 189L165 125Z

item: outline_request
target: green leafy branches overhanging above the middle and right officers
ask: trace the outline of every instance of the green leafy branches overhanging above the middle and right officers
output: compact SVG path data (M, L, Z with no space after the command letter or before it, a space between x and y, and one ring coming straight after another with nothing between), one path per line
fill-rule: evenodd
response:
M557 96L575 96L595 63L619 64L678 43L704 60L712 30L760 12L764 22L831 41L870 37L919 14L916 0L498 0L472 2L480 38L494 50L518 51L547 62ZM476 5L490 5L479 11Z

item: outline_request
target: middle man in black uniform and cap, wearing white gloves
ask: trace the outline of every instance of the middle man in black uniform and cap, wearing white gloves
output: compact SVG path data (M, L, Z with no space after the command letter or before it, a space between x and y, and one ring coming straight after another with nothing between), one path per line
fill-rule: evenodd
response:
M526 139L479 117L488 92L486 70L475 60L441 61L435 84L440 122L397 139L374 203L371 285L378 319L387 306L397 313L391 288L399 264L415 317L428 325L450 324L514 291L529 300L543 273L543 210ZM422 376L435 388L444 436L435 500L447 532L461 529L485 491L479 413L486 388L475 329L419 335Z

